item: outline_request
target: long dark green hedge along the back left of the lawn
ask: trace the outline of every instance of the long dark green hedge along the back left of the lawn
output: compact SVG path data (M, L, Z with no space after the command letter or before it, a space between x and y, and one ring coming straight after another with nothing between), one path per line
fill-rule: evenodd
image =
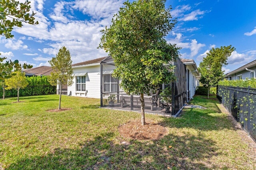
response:
M33 76L26 77L28 86L24 89L20 89L20 96L38 96L47 94L56 94L56 86L50 85L47 80L47 76ZM5 90L5 97L16 97L17 90ZM0 90L0 97L3 97L3 90Z

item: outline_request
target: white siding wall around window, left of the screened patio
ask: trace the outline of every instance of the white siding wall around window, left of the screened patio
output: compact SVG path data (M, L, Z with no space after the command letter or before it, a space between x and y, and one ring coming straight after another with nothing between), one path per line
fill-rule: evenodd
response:
M68 94L72 96L87 97L87 98L100 98L100 64L96 66L84 66L73 68L74 74L87 72L86 76L86 90L87 95L83 91L76 91L76 77L73 79L72 86L68 86Z

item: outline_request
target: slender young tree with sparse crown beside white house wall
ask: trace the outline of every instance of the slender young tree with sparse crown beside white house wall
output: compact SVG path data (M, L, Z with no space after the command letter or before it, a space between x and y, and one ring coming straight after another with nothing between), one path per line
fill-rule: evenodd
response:
M59 109L61 102L61 94L63 85L71 86L73 84L73 70L72 70L72 61L69 50L66 47L62 47L56 57L53 57L49 61L52 66L52 72L49 77L49 82L52 86L60 86L60 100L59 100Z

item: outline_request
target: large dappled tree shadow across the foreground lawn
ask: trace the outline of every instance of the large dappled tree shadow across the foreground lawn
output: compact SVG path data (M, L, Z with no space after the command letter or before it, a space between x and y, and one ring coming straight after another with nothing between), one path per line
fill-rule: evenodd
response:
M81 143L81 149L56 148L51 153L23 157L6 170L167 169L168 166L205 170L208 167L198 162L218 154L214 141L205 139L202 134L170 134L158 141L130 140L124 144L114 143L112 137L113 133L105 133Z

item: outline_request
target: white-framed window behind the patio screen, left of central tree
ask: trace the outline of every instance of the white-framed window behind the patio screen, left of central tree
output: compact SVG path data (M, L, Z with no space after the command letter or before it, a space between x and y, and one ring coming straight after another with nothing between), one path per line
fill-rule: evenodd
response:
M104 74L103 84L104 92L117 92L117 79L113 78L111 74Z

